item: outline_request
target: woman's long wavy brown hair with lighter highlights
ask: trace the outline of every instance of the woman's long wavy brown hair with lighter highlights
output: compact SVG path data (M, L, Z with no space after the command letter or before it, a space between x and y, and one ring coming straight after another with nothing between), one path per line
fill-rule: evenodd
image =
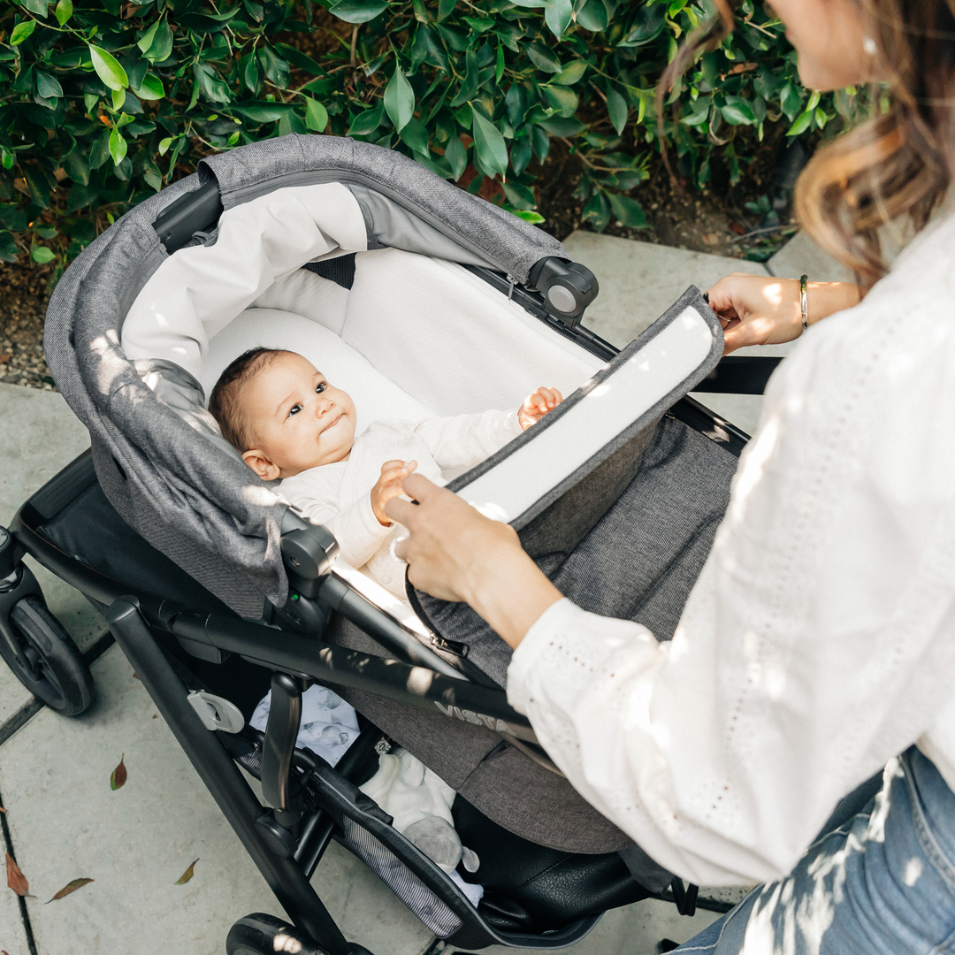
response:
M867 289L886 271L880 227L922 229L955 172L955 0L854 2L875 42L877 115L818 150L796 186L796 215ZM692 37L664 74L661 105L696 53L732 26L728 0L717 10L708 32Z

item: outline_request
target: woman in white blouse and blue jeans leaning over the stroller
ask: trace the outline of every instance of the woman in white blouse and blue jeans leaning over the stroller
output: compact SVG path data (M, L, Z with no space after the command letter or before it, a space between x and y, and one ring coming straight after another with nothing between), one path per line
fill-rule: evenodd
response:
M684 878L767 883L686 950L955 950L955 217L884 277L876 235L921 229L948 188L955 0L774 6L806 85L882 82L891 106L800 182L803 226L860 286L810 286L672 642L562 599L509 527L423 478L388 514L411 581L515 647L508 698L575 788ZM728 350L800 335L799 292L714 286Z

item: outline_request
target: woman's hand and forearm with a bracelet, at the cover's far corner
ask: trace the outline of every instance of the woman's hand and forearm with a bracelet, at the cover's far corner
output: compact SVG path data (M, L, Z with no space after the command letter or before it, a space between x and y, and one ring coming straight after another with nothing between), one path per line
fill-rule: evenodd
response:
M859 286L844 282L810 282L808 321L859 304ZM774 279L733 272L710 289L710 306L725 321L725 354L747 345L781 345L802 334L798 279Z

